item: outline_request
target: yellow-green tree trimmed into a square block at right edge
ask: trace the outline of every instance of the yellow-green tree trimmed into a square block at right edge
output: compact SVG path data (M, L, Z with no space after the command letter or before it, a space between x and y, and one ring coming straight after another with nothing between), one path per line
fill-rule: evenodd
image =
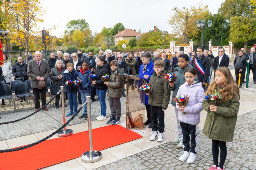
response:
M234 44L244 43L247 48L248 41L256 39L256 18L231 17L230 41Z

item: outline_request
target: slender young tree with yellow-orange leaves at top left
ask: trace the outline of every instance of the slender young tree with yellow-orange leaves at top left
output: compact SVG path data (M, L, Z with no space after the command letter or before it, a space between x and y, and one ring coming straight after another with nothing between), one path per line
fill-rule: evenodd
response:
M20 48L29 50L29 44L35 41L36 35L41 34L39 30L41 17L45 11L41 10L40 0L4 0L3 7L7 31L10 32L11 42ZM28 61L28 59L26 59Z

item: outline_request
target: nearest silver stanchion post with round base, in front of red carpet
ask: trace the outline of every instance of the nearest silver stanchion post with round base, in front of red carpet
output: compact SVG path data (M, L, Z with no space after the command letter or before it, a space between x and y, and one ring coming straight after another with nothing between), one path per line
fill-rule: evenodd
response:
M93 151L92 149L92 119L91 119L91 96L86 96L87 102L87 114L88 114L88 129L89 129L89 141L90 151L84 152L81 155L81 160L86 163L97 162L102 158L100 151Z

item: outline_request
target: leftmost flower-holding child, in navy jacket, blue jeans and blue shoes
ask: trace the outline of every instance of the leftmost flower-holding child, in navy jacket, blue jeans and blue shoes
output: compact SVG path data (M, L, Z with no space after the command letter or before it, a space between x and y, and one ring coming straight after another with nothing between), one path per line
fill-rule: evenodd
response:
M66 115L72 116L76 114L77 111L77 89L78 86L73 82L78 77L78 72L74 69L74 65L72 63L67 63L67 69L64 71L62 85L67 89L68 100L70 112ZM72 82L72 85L67 85L67 82Z

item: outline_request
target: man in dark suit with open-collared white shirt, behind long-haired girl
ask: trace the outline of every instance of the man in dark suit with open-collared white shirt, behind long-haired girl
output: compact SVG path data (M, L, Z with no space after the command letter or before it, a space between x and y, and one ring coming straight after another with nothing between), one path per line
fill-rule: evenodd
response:
M219 67L228 67L229 64L229 57L225 54L225 49L220 48L219 49L219 55L214 58L214 61L212 63L212 68L214 69L214 77L215 77L215 71Z

